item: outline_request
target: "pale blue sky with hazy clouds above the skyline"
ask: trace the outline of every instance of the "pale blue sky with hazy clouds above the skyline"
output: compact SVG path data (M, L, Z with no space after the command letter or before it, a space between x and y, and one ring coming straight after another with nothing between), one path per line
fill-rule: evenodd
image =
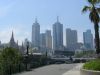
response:
M36 17L43 33L47 29L52 30L59 16L64 27L64 39L65 29L71 28L78 31L78 42L83 42L83 32L91 29L94 33L89 12L81 12L85 5L88 5L87 0L0 0L0 40L2 43L9 42L13 31L19 44L25 38L31 41Z

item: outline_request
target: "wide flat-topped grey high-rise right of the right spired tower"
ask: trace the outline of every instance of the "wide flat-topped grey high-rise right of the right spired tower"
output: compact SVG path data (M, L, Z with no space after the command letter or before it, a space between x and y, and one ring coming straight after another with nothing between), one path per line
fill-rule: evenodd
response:
M70 28L66 29L66 47L70 48L72 45L77 44L77 31L71 30Z

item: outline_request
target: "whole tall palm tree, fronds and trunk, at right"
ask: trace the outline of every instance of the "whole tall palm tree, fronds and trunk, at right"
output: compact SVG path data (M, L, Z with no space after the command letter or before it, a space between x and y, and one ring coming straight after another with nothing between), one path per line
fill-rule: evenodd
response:
M100 54L99 50L100 0L87 0L87 1L89 3L89 6L84 6L82 12L89 11L89 19L94 24L96 53Z

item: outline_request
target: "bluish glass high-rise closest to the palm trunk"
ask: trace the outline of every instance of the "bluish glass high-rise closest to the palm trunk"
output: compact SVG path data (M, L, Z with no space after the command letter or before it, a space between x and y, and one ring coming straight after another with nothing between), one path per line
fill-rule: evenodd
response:
M86 49L93 49L93 35L91 33L91 30L83 32L83 41Z

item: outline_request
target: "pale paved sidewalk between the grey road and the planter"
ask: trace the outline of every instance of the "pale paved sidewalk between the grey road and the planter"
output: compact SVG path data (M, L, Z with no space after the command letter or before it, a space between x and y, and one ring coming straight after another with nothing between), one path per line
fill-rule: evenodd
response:
M73 69L67 71L66 73L62 74L62 75L80 75L80 68L82 67L82 63L81 64L77 64L76 67L74 67Z

